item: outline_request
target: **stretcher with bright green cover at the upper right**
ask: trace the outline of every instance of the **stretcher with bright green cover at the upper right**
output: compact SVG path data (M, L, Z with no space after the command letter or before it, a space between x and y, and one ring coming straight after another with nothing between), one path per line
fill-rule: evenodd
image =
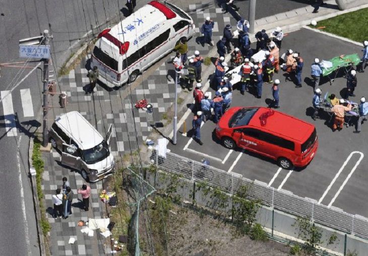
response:
M353 69L353 65L358 65L360 58L357 54L350 55L340 55L332 58L328 61L322 61L322 75L328 77L330 80L330 85L334 82L339 73L339 70L344 72L344 77L346 78L350 70Z

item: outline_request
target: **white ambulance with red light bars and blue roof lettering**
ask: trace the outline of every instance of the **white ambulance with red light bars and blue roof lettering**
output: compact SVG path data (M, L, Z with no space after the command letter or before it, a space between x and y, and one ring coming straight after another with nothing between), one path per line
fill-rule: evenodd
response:
M112 28L95 43L91 67L108 87L134 82L150 65L171 52L183 37L192 37L192 18L170 3L151 1Z

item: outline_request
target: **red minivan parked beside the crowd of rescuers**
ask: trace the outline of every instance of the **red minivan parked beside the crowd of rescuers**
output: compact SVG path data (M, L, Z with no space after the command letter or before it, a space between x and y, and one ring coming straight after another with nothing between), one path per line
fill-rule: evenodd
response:
M318 148L313 124L264 107L229 109L215 133L225 147L259 153L286 170L308 165Z

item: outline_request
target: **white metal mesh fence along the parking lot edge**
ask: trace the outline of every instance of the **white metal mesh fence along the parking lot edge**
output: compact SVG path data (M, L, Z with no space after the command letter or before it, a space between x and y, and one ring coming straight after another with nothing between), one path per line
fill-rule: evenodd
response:
M318 202L294 195L292 192L277 190L244 178L241 174L227 173L175 153L166 153L166 157L162 158L154 150L151 162L162 171L175 173L196 182L206 182L230 194L234 194L240 186L246 185L249 187L249 197L260 199L265 206L295 216L311 218L321 225L368 239L368 219L362 216L328 208Z

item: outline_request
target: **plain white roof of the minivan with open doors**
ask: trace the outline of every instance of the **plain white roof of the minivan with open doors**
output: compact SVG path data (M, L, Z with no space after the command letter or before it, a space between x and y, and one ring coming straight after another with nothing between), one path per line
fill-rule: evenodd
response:
M103 141L101 134L78 111L68 112L55 119L55 123L82 150L92 148Z

